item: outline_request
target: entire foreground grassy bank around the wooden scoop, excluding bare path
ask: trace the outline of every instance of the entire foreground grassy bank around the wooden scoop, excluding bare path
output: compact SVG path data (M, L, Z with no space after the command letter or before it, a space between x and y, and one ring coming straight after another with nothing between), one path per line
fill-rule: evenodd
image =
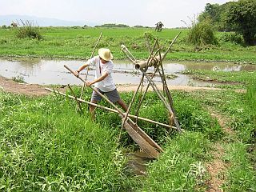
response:
M74 87L78 93L81 87ZM74 112L75 103L54 95L27 98L0 92L0 188L10 191L203 191L212 146L224 147L226 191L255 190L255 110L253 86L248 94L233 91L173 93L184 134L146 122L138 125L165 152L150 162L147 176L126 171L124 151L138 150L122 131L117 114L97 110L96 122ZM129 103L132 93L122 94ZM90 91L86 98L90 98ZM102 105L106 103L102 102ZM61 107L60 107L61 106ZM209 107L226 115L234 136L223 132ZM87 106L83 106L87 110ZM155 94L147 94L140 116L168 122ZM136 110L136 105L132 109Z

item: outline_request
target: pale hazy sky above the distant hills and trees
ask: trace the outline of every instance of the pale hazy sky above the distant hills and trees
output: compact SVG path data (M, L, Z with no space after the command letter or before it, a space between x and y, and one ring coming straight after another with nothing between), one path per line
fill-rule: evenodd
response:
M201 13L206 3L232 0L0 0L0 15L22 14L97 24L122 23L129 26L185 26ZM189 17L189 18L188 18Z

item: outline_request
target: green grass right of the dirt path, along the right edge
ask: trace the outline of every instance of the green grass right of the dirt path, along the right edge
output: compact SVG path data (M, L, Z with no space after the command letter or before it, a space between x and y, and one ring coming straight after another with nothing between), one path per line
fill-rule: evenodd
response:
M223 185L226 191L255 191L256 189L254 89L254 84L249 84L246 93L229 90L191 95L193 98L201 98L203 103L213 107L218 113L225 114L226 126L234 130L234 135L226 135L227 137L223 138L225 139L223 161L229 165ZM228 140L230 142L227 142Z

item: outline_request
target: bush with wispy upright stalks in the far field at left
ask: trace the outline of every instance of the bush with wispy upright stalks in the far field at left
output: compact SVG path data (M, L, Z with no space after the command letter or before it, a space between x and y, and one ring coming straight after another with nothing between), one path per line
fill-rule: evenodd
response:
M22 26L17 28L18 38L35 38L38 40L42 39L42 34L40 33L38 26L34 26L33 22L31 21L21 22Z

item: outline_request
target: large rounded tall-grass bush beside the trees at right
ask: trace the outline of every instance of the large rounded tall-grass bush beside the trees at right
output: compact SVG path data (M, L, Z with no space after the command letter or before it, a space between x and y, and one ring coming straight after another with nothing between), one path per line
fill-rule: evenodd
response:
M214 29L210 22L193 22L188 34L188 42L194 46L217 44L217 38L214 36Z

